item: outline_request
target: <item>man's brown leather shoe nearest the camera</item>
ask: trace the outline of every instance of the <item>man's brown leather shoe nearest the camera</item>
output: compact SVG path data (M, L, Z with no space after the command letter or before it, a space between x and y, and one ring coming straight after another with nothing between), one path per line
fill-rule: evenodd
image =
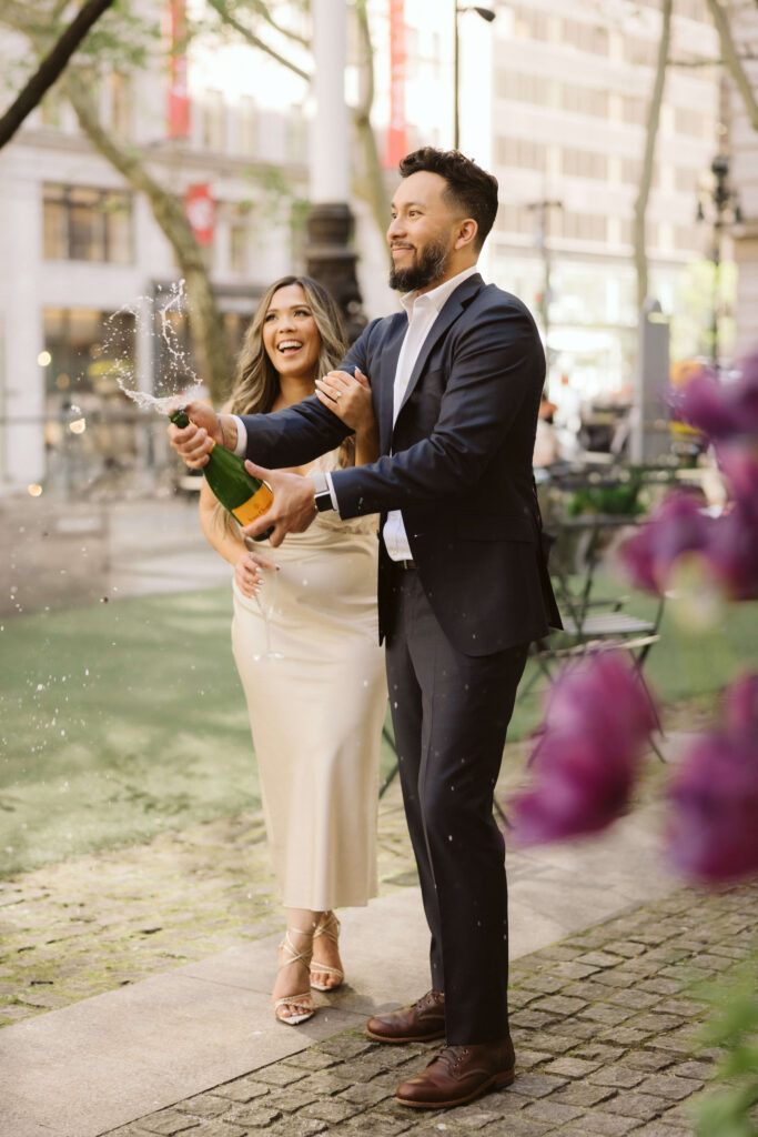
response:
M444 1110L464 1105L514 1080L515 1055L510 1038L500 1043L445 1046L423 1073L398 1086L401 1105Z

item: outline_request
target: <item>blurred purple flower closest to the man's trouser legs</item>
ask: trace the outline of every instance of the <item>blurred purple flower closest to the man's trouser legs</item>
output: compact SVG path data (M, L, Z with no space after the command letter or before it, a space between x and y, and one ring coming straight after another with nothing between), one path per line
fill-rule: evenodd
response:
M515 840L593 833L620 816L655 722L640 677L617 653L567 669L548 697L535 783L511 802Z

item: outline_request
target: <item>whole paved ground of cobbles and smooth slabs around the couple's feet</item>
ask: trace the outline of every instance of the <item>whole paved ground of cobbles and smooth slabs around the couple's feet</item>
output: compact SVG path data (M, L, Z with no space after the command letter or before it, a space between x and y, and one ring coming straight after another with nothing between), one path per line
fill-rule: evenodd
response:
M528 748L507 748L502 798L522 782ZM0 1137L690 1137L691 1099L718 1057L698 1048L707 1012L691 985L727 977L755 952L758 886L700 894L666 877L655 805L666 773L651 762L639 807L597 843L509 852L517 1079L440 1113L394 1102L433 1047L363 1034L372 1009L422 994L425 981L397 785L381 806L380 899L344 915L355 986L319 996L297 1031L268 1004L281 911L259 815L3 882L0 1082L6 1117L18 1120L6 1132L0 1107ZM194 1005L203 997L214 1040ZM194 1019L185 1023L183 1009ZM181 1053L166 1052L166 1030ZM123 1068L122 1037L132 1046ZM222 1040L226 1053L209 1054ZM97 1067L101 1043L110 1053ZM99 1084L101 1070L120 1087Z

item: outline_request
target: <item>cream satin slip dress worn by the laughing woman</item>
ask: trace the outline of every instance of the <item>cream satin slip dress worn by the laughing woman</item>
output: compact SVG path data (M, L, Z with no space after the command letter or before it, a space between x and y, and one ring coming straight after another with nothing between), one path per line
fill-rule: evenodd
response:
M332 451L311 468L336 464ZM260 607L234 584L232 646L283 904L314 912L363 905L377 889L386 709L376 518L319 513L278 548L251 547L280 570L263 570ZM268 637L261 608L270 613Z

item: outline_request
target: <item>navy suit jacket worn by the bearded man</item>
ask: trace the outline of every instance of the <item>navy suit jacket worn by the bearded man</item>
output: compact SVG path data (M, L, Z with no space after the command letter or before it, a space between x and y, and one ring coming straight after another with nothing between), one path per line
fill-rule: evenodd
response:
M422 586L444 633L466 655L490 655L559 628L532 474L544 351L516 297L469 276L428 333L392 423L403 313L375 319L340 370L372 387L378 462L332 474L342 517L401 509ZM248 456L302 465L349 429L314 396L243 416ZM390 559L381 541L380 636L391 632Z

